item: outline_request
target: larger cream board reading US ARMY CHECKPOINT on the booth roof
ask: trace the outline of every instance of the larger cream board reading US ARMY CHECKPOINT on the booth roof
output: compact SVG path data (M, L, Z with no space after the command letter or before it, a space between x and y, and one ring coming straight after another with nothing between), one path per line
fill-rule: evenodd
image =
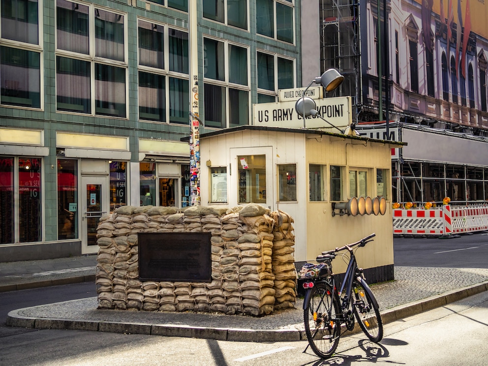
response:
M304 128L303 116L299 115L295 110L295 103L298 99L300 98L295 98L295 100L290 101L280 101L277 103L254 104L254 125L282 128ZM351 124L352 115L350 96L312 99L315 100L319 115L339 129L344 129ZM334 127L318 116L306 118L305 128L332 128L336 131Z

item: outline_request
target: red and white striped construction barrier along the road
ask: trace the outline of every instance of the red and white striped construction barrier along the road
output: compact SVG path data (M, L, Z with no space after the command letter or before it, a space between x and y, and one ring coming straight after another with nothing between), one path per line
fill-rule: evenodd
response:
M393 210L393 233L397 235L451 235L482 230L488 230L488 206Z

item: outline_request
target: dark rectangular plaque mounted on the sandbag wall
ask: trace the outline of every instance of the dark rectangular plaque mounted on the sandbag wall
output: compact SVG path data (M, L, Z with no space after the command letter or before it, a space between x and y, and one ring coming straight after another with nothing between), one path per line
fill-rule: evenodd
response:
M139 278L211 282L210 233L139 233Z

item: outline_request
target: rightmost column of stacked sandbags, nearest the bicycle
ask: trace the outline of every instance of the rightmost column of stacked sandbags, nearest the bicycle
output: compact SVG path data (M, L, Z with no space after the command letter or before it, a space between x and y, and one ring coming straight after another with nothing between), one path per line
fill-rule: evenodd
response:
M276 310L295 306L297 270L295 268L293 218L280 210L271 213L275 226L273 230L273 273Z

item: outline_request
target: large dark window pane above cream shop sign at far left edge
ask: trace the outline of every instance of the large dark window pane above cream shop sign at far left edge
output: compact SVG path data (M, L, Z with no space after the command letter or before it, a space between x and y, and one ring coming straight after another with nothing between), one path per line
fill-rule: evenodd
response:
M0 102L3 105L41 107L40 53L0 47Z

